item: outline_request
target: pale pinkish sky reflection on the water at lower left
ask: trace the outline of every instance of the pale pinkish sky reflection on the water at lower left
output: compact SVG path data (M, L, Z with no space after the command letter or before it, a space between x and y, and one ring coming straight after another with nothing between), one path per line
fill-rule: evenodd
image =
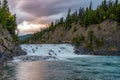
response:
M41 64L41 65L44 65L44 64ZM39 80L42 75L41 74L43 70L42 68L44 69L44 67L41 67L40 64L34 63L34 62L18 64L16 69L16 73L17 73L16 79L17 80Z

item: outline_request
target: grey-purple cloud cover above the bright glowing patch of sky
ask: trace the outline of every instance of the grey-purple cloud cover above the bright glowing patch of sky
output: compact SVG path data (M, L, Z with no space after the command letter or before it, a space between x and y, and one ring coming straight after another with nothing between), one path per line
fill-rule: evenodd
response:
M79 7L86 7L89 5L91 0L8 0L11 6L12 12L17 14L18 23L23 20L34 21L40 18L44 18L45 23L50 22L52 19L48 20L47 17L57 14L65 14L68 9L79 9ZM101 0L92 0L93 4L99 4ZM54 20L54 19L53 19Z

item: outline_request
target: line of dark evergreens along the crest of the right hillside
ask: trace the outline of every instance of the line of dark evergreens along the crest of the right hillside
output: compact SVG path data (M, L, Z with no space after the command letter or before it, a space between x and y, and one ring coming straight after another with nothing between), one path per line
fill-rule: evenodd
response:
M51 22L48 28L33 34L33 36L28 40L32 41L35 39L33 41L36 41L38 38L43 39L42 35L45 32L54 32L56 27L65 27L66 30L70 30L71 27L73 27L73 24L79 24L82 27L87 28L91 24L100 24L102 21L107 19L117 21L118 24L120 24L120 3L118 0L104 0L96 9L93 9L92 5L92 2L90 2L89 7L86 9L80 7L80 9L75 12L71 12L71 9L69 9L66 18L61 17L55 22ZM75 28L74 31L76 31ZM80 38L76 37L74 40L83 40L83 36L79 37ZM98 41L96 38L96 42L100 42L102 44L102 39L101 41Z

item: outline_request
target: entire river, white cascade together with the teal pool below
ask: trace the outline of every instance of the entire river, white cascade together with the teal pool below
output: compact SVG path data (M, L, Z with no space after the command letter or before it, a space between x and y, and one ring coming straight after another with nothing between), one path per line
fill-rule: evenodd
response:
M21 47L27 57L9 61L0 69L0 80L120 80L119 56L75 55L69 44Z

